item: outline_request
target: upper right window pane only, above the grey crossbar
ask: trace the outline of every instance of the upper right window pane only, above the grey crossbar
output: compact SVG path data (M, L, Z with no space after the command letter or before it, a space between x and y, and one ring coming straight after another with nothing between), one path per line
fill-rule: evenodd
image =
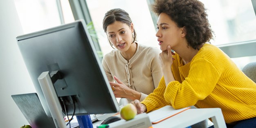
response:
M216 34L214 45L256 40L256 17L251 0L200 0Z

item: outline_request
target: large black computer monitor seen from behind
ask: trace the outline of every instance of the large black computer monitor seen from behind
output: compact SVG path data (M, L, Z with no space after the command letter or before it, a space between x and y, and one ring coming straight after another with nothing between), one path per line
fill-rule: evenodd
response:
M113 113L119 110L106 74L83 20L16 37L20 53L48 117L52 117L38 82L42 72L59 71L54 83L68 115Z

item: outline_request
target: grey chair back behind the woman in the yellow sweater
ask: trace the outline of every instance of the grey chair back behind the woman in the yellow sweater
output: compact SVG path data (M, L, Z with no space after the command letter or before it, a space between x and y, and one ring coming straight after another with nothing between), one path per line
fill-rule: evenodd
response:
M256 83L256 62L245 65L242 69L243 73Z

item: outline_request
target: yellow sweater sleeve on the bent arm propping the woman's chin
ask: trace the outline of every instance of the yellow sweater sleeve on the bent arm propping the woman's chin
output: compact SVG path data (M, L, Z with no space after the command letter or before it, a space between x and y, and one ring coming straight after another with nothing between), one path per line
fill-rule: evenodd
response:
M213 91L219 78L220 73L216 67L206 59L199 58L191 63L189 75L182 83L168 83L164 99L175 109L193 106Z

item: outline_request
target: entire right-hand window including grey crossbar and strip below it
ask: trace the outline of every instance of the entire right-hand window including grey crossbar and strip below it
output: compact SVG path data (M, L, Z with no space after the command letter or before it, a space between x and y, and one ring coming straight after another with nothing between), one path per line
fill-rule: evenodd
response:
M256 17L252 1L200 1L208 9L208 19L215 32L216 38L211 43L226 52L240 69L250 62L255 62L256 50L252 47L255 47L256 43ZM233 56L235 54L236 56Z

